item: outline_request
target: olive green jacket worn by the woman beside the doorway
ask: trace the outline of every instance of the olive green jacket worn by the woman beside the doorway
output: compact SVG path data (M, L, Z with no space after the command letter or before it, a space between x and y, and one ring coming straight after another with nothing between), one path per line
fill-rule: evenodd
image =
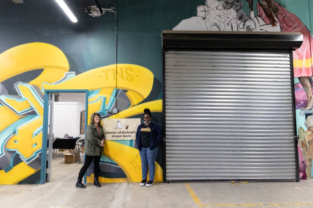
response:
M86 155L98 156L101 154L101 152L103 152L103 147L99 146L99 144L101 144L101 140L104 139L104 133L101 125L99 125L99 128L100 136L95 124L90 123L87 126L85 138Z

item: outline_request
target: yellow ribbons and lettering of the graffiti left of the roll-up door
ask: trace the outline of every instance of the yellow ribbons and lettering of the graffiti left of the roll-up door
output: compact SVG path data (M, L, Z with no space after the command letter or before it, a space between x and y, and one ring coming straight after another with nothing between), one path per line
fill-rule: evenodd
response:
M23 110L33 110L38 115L14 129L12 133L15 135L8 138L5 147L8 150L16 151L27 161L38 157L35 154L42 148L43 138L43 97L41 92L32 85L37 86L42 91L43 89L96 90L88 99L88 114L99 111L105 104L108 104L109 100L112 101L112 93L115 89L125 90L125 94L130 100L129 109L114 115L122 118L125 115L142 113L143 104L136 105L150 94L154 79L150 70L131 64L103 66L73 77L73 73L70 75L67 73L69 64L64 53L59 48L46 43L28 43L11 48L0 54L0 62L2 63L0 82L23 72L44 69L29 84L16 84L22 99L6 98L6 103L0 106L0 120L6 120L6 122L0 122L0 131L24 117L18 116L12 110L13 108L22 113ZM146 105L149 105L151 109L154 108L151 110L152 112L162 112L162 100L148 102ZM125 154L119 154L121 151ZM141 181L141 161L137 149L114 141L107 141L103 154L122 168L127 176L127 181ZM18 183L36 171L38 170L34 170L25 162L21 162L7 173L3 170L0 171L0 184ZM156 162L155 181L163 181L162 177L162 168ZM103 182L104 180L107 182L126 181L125 178L100 178L100 181Z

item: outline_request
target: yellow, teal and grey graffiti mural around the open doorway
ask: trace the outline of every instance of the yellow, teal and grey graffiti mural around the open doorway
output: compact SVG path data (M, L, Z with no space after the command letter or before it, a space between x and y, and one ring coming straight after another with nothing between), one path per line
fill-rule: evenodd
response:
M4 51L0 60L0 82L26 71L43 69L29 83L15 83L18 95L7 94L4 86L0 88L0 120L6 121L0 123L0 184L16 184L41 169L45 89L88 89L88 123L92 112L99 112L101 118L142 114L145 106L162 112L162 100L141 103L151 92L154 76L139 65L108 65L75 75L69 72L62 51L40 42ZM125 109L112 114L117 98ZM102 171L105 168L101 167L105 165L115 167L116 172L121 169L117 174L121 177L105 177ZM141 181L139 152L130 140L106 141L101 166L101 182ZM87 172L87 181L89 178L93 180L91 172ZM162 167L156 162L155 181L162 180Z

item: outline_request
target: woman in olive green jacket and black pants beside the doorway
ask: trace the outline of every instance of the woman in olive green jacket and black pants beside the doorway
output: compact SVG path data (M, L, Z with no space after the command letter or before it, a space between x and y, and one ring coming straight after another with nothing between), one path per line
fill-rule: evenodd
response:
M100 119L100 114L93 113L91 115L90 124L87 126L85 138L85 163L80 169L76 183L76 187L79 188L86 188L86 186L82 183L82 180L92 160L94 161L94 185L101 187L98 180L100 170L99 163L101 159L101 153L103 151L105 137Z

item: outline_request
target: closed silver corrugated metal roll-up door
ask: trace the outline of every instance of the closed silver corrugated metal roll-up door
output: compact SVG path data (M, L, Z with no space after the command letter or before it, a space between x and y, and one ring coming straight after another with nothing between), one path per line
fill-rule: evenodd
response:
M166 179L296 181L289 52L166 51Z

